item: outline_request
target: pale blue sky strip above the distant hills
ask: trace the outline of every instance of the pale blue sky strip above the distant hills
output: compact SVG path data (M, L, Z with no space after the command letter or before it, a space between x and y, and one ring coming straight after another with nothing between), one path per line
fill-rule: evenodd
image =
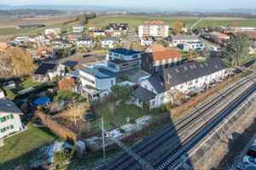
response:
M20 5L90 5L101 7L137 7L163 9L256 8L256 0L0 0L0 4Z

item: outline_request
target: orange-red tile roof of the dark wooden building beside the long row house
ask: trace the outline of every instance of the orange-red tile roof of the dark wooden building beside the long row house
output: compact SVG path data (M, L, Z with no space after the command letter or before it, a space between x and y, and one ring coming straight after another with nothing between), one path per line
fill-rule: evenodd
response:
M182 54L179 54L176 49L170 49L165 51L155 51L152 53L148 53L148 56L151 57L153 60L160 60L160 59L173 59L182 57Z

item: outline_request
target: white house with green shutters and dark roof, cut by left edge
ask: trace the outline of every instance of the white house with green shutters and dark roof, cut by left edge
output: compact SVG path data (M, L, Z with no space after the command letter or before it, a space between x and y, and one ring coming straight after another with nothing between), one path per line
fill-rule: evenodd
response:
M9 99L0 99L0 139L23 130L20 115L22 111Z

